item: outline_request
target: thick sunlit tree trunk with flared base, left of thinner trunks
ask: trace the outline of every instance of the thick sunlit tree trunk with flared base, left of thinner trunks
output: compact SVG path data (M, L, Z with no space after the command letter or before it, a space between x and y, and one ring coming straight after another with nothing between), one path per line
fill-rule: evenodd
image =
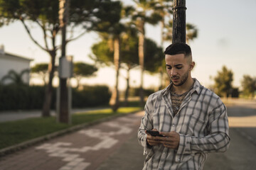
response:
M116 72L116 81L115 86L112 91L112 96L110 98L110 106L112 108L112 111L117 111L119 108L119 91L118 91L118 77L119 77L119 57L120 57L120 49L119 49L119 38L114 39L114 68Z

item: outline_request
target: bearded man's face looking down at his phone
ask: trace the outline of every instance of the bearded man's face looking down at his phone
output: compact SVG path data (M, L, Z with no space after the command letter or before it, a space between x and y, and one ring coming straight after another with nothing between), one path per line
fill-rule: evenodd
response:
M165 55L166 71L174 86L182 86L190 77L190 67L192 63L189 57L183 54Z

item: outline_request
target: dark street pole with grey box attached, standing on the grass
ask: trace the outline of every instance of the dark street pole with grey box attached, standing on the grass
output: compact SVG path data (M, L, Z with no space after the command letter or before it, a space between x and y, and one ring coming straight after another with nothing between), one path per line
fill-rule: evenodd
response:
M69 91L67 86L68 77L70 77L70 69L68 68L70 61L65 57L65 46L66 46L66 24L68 23L68 4L69 0L59 0L59 20L62 34L62 46L61 46L61 57L59 62L59 88L57 97L57 112L58 122L60 123L71 123L70 122L70 103ZM71 61L72 62L72 61Z

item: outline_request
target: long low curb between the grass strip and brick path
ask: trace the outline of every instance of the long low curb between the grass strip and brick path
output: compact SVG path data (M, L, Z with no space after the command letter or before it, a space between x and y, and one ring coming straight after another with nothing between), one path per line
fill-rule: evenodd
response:
M143 111L143 110L141 110ZM81 125L75 125L73 127L70 127L70 128L67 128L67 129L64 129L64 130L60 130L60 131L57 131L57 132L53 132L53 133L50 133L48 135L44 135L44 136L41 136L41 137L36 137L32 140L27 140L25 142L21 142L20 144L17 144L17 145L13 145L11 147L6 147L4 149L0 149L0 157L4 157L6 156L7 154L11 154L11 153L14 153L14 152L17 152L21 149L25 149L27 147L30 147L32 145L36 145L40 142L45 142L47 140L50 140L50 139L53 139L54 137L59 137L61 135L66 135L70 132L75 132L77 130L80 130L82 128L87 128L91 125L96 125L96 124L99 124L99 123L103 123L103 122L106 122L108 120L112 120L114 118L119 118L119 117L123 117L125 115L131 115L131 114L134 114L134 113L139 113L140 111L134 111L134 112L131 112L131 113L124 113L124 114L118 114L118 115L111 115L107 118L101 118L99 120L94 120L90 123L83 123Z

